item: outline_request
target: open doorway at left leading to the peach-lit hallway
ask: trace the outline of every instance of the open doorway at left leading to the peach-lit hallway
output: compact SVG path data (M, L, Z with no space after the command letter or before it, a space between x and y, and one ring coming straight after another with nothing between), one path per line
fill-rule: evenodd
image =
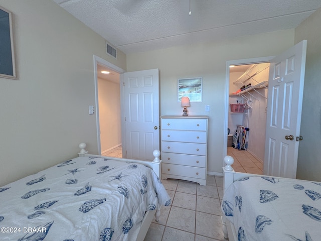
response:
M119 78L125 71L97 56L94 56L94 69L98 153L110 156L110 151L118 148L120 151L115 157L121 158Z

